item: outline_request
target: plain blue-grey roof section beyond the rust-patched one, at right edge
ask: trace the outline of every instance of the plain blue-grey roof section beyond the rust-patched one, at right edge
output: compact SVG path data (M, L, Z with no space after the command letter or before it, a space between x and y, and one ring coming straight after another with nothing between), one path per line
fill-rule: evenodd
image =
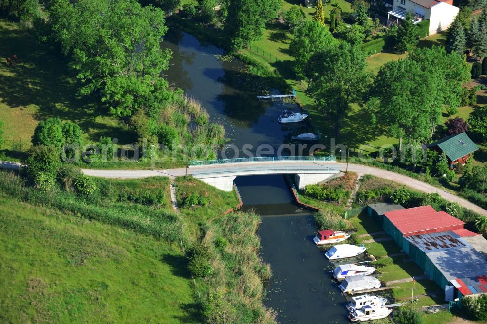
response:
M447 281L487 275L487 261L472 247L426 253Z

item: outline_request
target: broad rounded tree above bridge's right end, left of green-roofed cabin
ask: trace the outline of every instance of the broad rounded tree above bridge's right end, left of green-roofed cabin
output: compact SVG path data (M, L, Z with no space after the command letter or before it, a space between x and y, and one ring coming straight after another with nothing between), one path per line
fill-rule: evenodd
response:
M388 62L374 80L369 108L390 135L424 142L430 138L431 76L410 59ZM372 102L372 105L370 104ZM373 116L374 117L374 116Z

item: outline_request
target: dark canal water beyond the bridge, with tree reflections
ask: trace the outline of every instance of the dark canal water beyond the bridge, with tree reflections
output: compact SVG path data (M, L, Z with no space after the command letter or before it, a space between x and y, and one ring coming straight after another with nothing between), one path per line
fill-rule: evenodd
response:
M257 99L269 90L259 78L242 72L242 62L222 57L222 49L180 31L169 31L161 46L173 53L165 78L203 103L210 119L225 126L228 144L236 145L240 154L243 149L255 154L261 144L277 149L290 144L291 136L313 132L308 123L279 124L283 110L299 110L296 103ZM226 152L225 158L234 157L233 150Z

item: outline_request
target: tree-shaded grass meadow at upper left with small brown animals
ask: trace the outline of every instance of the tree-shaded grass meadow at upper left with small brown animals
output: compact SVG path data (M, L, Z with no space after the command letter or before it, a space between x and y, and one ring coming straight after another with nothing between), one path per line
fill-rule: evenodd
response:
M131 143L131 132L116 119L102 114L94 97L78 99L78 85L66 70L61 56L37 45L19 24L0 20L0 116L6 123L4 148L9 158L30 145L41 119L60 117L77 123L87 143L111 136ZM19 63L9 67L6 57L16 55Z

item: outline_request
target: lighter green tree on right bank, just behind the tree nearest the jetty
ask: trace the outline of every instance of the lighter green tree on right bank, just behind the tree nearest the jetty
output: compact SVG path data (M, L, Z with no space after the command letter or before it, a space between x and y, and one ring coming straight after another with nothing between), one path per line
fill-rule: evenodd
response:
M300 78L306 77L308 61L315 52L334 43L331 33L318 21L306 20L294 29L289 51L294 57L294 71Z

